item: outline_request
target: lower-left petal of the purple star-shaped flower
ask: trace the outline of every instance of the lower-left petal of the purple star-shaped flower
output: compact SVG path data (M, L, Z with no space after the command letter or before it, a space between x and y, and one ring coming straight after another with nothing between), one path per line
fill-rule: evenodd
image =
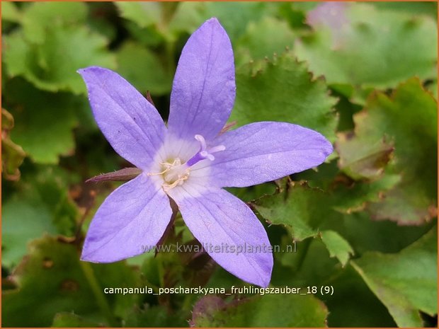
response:
M153 248L171 220L169 198L144 174L121 185L91 221L81 260L115 262Z

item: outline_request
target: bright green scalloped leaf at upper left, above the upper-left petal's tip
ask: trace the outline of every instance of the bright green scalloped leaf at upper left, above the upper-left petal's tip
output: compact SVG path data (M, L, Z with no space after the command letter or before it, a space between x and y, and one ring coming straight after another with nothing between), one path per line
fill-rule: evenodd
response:
M106 51L106 39L85 26L47 29L40 45L26 42L21 31L6 36L4 42L8 75L23 76L45 91L86 93L78 69L115 67L113 54Z

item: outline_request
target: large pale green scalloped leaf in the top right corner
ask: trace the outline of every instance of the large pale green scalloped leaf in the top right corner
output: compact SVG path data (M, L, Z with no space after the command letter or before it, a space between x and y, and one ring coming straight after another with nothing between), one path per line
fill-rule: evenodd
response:
M295 45L295 54L328 83L388 88L411 76L435 76L432 18L380 11L370 4L343 4L338 15L348 22L342 28L314 24L314 32Z

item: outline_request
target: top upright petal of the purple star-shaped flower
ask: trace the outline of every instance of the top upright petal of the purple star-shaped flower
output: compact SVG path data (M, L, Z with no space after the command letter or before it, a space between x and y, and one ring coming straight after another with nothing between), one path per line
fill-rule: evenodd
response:
M226 31L210 18L190 36L173 79L169 132L193 140L215 137L235 98L234 57Z

